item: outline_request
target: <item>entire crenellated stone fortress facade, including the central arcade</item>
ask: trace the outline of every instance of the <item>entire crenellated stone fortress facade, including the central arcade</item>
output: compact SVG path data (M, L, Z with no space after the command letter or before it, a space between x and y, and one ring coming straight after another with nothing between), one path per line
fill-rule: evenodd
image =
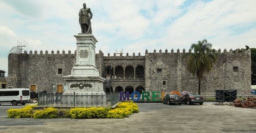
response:
M188 51L188 53L190 53ZM186 71L186 53L178 49L176 52L160 49L153 53L145 51L145 56L116 55L109 53L104 56L102 51L96 54L96 66L99 74L107 80L112 80L105 85L111 92L119 92L120 88L126 91L135 91L137 87L144 91L173 90L198 92L198 80ZM218 59L213 70L205 75L201 81L202 95L215 95L215 90L237 90L237 95L250 94L250 49L216 51ZM75 54L68 51L24 51L22 54L9 54L8 86L13 88L30 88L36 85L36 92L52 92L53 86L65 86L63 75L70 75L71 68L76 61ZM111 66L113 72L109 76L106 67ZM137 79L137 67L144 69L142 79ZM121 69L121 74L118 72ZM123 70L122 70L123 69ZM127 72L131 70L132 72ZM136 72L135 72L136 71ZM122 74L123 73L123 74ZM130 79L132 77L132 79ZM133 78L134 77L134 78ZM65 88L65 87L64 87ZM118 89L117 89L118 88Z

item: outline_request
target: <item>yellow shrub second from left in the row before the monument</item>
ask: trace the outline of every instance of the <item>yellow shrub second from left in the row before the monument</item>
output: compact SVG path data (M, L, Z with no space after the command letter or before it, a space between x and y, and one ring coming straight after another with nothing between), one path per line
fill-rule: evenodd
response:
M56 108L44 108L42 110L36 110L33 114L34 119L40 118L57 118L58 117L58 110Z

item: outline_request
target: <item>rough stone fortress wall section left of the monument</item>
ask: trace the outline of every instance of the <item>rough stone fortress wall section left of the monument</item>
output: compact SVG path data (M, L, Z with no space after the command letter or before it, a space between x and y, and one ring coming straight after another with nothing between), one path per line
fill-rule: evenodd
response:
M36 85L36 92L52 92L53 86L63 85L63 75L69 75L75 64L76 54L62 54L57 51L30 51L23 54L9 54L8 86L12 88L30 88ZM62 72L60 72L62 71Z

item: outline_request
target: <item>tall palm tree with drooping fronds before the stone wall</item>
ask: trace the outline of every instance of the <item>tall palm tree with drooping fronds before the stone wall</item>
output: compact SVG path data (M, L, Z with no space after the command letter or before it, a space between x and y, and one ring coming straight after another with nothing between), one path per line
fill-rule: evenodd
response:
M191 45L190 49L194 50L194 53L188 55L187 69L198 78L199 95L201 92L201 80L203 79L204 74L211 71L217 60L217 55L213 53L211 46L211 43L208 43L205 39L198 41L197 44L194 43Z

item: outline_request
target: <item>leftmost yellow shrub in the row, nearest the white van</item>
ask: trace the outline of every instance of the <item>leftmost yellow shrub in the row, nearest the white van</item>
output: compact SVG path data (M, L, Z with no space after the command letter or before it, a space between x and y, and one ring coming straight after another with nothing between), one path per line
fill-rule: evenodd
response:
M8 118L31 118L34 106L36 105L27 105L24 108L20 108L20 109L8 109L7 117Z

